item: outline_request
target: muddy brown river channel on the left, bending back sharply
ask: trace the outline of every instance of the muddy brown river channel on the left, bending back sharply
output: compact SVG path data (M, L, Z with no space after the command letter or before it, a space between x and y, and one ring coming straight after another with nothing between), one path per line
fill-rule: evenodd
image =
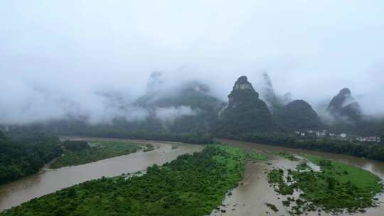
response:
M153 151L132 153L127 156L108 158L94 163L80 166L70 166L49 170L43 168L40 173L21 178L5 185L0 185L0 212L10 207L20 205L33 198L53 193L56 190L68 188L71 185L82 183L86 180L112 177L122 173L144 171L148 166L161 165L173 161L185 153L201 151L203 146L180 144L166 141L139 141L125 139L102 139L87 137L61 137L61 139L85 141L131 141L133 143L153 144ZM172 146L177 145L177 148Z

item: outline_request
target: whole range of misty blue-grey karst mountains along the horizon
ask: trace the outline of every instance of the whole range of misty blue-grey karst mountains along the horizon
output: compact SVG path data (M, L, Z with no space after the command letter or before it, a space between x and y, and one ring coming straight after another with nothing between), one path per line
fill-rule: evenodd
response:
M84 119L59 119L30 124L28 127L55 134L89 135L136 132L199 134L242 134L267 131L303 131L329 129L352 134L381 135L384 121L366 117L352 92L343 88L331 99L326 117L319 116L303 99L292 100L289 94L276 95L270 77L260 95L246 76L235 81L228 102L215 97L209 85L198 80L166 84L161 72L149 77L144 95L133 102L121 102L119 112L132 107L144 113L143 119L116 117L108 124L89 125ZM324 121L324 119L331 119ZM326 123L325 123L326 122Z

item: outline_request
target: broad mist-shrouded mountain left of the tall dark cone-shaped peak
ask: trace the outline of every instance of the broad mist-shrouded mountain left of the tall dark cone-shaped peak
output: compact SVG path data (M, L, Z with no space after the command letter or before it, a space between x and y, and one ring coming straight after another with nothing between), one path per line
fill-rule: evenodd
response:
M210 95L208 85L181 82L173 87L161 88L160 75L151 75L146 94L134 102L148 110L147 120L157 122L171 132L206 132L210 130L225 102Z

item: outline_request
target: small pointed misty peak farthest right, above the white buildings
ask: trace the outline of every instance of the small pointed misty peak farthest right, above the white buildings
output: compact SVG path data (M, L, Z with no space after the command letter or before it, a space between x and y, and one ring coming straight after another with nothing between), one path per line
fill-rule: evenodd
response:
M361 120L361 107L352 97L351 90L343 88L338 92L327 108L336 121L358 121Z

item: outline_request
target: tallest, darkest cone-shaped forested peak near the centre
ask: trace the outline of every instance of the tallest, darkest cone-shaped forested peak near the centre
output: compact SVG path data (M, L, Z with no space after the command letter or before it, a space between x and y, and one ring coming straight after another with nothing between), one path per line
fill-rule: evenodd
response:
M221 113L216 131L219 134L276 131L277 124L267 104L259 99L247 77L239 77L228 95L228 107Z

